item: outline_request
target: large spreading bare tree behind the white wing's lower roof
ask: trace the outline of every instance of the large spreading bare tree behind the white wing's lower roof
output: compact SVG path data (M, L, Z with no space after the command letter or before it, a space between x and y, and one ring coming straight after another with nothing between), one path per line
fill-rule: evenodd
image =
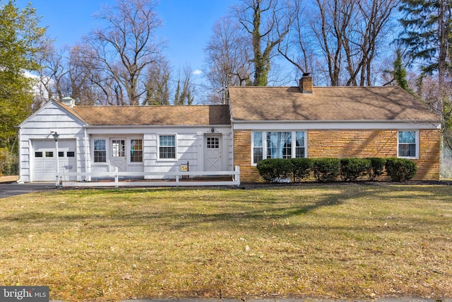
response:
M116 99L116 105L140 105L146 94L146 71L165 47L155 37L161 25L155 2L117 0L117 6L105 6L97 18L104 21L105 27L83 38L90 46L84 53L85 60L93 61L103 72L97 84L112 87L108 98Z

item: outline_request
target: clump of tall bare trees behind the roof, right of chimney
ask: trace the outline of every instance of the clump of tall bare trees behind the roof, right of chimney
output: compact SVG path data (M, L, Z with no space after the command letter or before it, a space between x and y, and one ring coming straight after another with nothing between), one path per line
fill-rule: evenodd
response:
M376 81L376 57L383 53L382 42L388 42L388 25L399 2L311 1L300 10L290 39L278 50L299 71L316 69L316 76L328 79L328 85L370 86Z

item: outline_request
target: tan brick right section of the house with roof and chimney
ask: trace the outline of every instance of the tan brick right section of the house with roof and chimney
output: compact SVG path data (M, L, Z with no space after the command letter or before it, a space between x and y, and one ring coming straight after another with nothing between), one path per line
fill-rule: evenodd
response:
M439 180L441 124L398 86L230 87L234 165L258 181L262 158L403 157L417 180Z

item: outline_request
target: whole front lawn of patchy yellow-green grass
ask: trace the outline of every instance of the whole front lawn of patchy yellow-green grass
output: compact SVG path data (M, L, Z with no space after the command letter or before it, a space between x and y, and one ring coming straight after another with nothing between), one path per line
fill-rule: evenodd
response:
M452 298L452 187L60 190L0 199L0 284L52 299Z

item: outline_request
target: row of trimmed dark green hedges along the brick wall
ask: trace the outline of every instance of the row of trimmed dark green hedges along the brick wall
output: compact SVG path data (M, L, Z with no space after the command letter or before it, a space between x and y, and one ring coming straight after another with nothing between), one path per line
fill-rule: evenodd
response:
M266 182L281 182L292 178L301 182L311 175L317 182L355 181L368 175L375 180L384 170L391 181L403 182L416 175L416 163L406 158L267 158L259 161L257 170Z

